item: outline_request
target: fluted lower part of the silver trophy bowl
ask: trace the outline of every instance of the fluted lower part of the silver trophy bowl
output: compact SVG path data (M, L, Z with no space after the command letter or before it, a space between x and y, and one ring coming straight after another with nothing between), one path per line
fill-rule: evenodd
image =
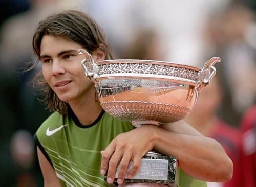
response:
M102 108L124 121L155 121L171 123L183 119L191 112L190 108L173 104L142 101L108 101L101 102ZM133 124L140 126L140 124Z

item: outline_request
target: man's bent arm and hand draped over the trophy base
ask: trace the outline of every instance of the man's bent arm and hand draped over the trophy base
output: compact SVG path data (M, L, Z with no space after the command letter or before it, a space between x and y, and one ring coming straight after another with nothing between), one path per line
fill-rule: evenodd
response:
M184 121L160 127L144 125L119 134L102 152L101 174L108 171L108 182L112 183L120 163L118 183L122 183L129 162L133 160L133 168L127 173L131 178L138 172L141 158L153 148L175 156L181 168L194 178L223 182L232 177L233 164L222 146Z

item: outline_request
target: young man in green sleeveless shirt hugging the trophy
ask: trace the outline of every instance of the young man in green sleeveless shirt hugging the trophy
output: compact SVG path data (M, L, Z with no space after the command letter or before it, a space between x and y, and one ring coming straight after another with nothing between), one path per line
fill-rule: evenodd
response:
M103 175L113 183L118 164L117 183L122 184L129 162L134 163L127 173L131 178L152 149L177 157L182 170L196 179L230 180L232 162L221 145L183 121L134 128L102 110L77 50L86 49L95 61L112 55L102 29L87 14L69 10L41 21L33 49L42 68L37 80L54 111L36 132L45 186L108 186ZM188 175L180 177L180 186L205 186Z

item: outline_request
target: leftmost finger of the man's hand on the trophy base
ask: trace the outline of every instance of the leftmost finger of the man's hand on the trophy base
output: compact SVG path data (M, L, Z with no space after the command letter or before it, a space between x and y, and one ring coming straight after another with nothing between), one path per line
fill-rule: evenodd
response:
M108 147L104 151L101 151L101 166L100 166L100 173L101 175L105 175L106 171L108 171L108 166L109 166L109 160L111 156L113 155L115 151L115 144L110 143Z

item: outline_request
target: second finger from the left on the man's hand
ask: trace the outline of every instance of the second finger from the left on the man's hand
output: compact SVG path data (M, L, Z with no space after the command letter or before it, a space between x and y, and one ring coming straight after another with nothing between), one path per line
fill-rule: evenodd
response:
M107 182L108 183L113 183L115 174L116 174L116 169L117 166L122 159L122 152L121 151L115 151L112 157L110 158L109 161L109 166L108 166L108 174L107 174Z

